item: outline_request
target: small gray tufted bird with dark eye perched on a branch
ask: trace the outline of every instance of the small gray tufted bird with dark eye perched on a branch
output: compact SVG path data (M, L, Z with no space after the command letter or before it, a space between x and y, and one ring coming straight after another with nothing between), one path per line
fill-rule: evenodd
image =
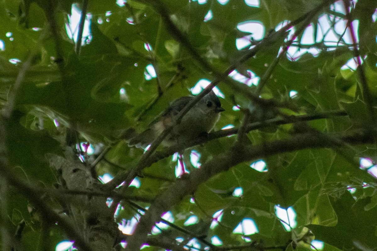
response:
M147 129L131 138L129 146L146 148L166 128L173 125L176 115L192 100L193 96L180 97L170 103L170 106L152 121ZM216 94L211 91L205 95L195 106L183 116L181 123L173 127L162 145L172 146L195 139L202 134L210 132L224 111Z

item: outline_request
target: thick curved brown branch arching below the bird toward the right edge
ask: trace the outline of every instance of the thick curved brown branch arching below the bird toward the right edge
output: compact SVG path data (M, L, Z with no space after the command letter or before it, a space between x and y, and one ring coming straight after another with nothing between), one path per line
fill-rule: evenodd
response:
M346 142L350 145L375 143L374 139L369 136L369 130L358 129L342 134L329 134L331 138L336 138L340 142ZM258 158L298 151L308 148L336 148L333 140L323 140L310 133L294 135L286 140L275 140L245 147L236 144L227 152L216 156L212 160L202 165L201 169L193 170L185 178L178 179L175 183L164 190L152 203L149 210L141 217L138 226L132 236L129 238L127 250L138 250L147 234L152 229L155 222L158 221L162 213L170 210L178 204L186 195L195 193L198 186L210 177L227 171L230 167L244 161L253 161ZM175 191L173 194L171 191Z

